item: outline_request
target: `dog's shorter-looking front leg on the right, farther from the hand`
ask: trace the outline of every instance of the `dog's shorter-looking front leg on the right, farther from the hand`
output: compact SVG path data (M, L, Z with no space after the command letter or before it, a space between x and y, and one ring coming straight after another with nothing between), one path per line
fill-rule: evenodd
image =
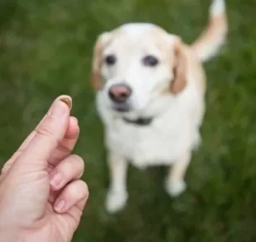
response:
M170 167L165 183L168 194L172 197L178 197L186 189L184 177L187 167L191 161L191 151L187 151L178 161L175 161Z

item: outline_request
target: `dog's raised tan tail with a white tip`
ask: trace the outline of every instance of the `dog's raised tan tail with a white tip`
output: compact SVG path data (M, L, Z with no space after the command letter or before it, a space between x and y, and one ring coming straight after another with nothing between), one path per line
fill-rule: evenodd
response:
M219 52L225 43L227 30L225 0L212 0L208 26L191 45L192 51L201 62L206 62Z

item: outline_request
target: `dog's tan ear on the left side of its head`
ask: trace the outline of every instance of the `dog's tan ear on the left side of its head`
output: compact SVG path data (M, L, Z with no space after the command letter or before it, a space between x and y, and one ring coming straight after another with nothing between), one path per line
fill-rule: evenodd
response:
M93 46L91 85L95 91L100 90L102 86L102 77L100 73L102 68L102 51L110 38L111 33L104 32L102 35L98 36L97 41Z

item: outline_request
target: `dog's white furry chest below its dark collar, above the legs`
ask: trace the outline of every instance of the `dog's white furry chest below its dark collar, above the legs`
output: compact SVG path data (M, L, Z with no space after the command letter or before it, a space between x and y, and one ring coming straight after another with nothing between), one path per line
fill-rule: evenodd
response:
M188 134L189 125L181 116L166 114L145 126L118 119L108 128L107 147L136 166L170 164L189 145Z

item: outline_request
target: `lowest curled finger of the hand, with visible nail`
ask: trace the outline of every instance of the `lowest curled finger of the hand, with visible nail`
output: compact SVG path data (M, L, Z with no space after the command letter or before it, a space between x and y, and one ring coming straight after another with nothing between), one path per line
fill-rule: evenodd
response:
M55 212L64 213L74 206L83 211L88 196L88 185L82 180L75 180L59 194L59 198L56 199L54 205Z

